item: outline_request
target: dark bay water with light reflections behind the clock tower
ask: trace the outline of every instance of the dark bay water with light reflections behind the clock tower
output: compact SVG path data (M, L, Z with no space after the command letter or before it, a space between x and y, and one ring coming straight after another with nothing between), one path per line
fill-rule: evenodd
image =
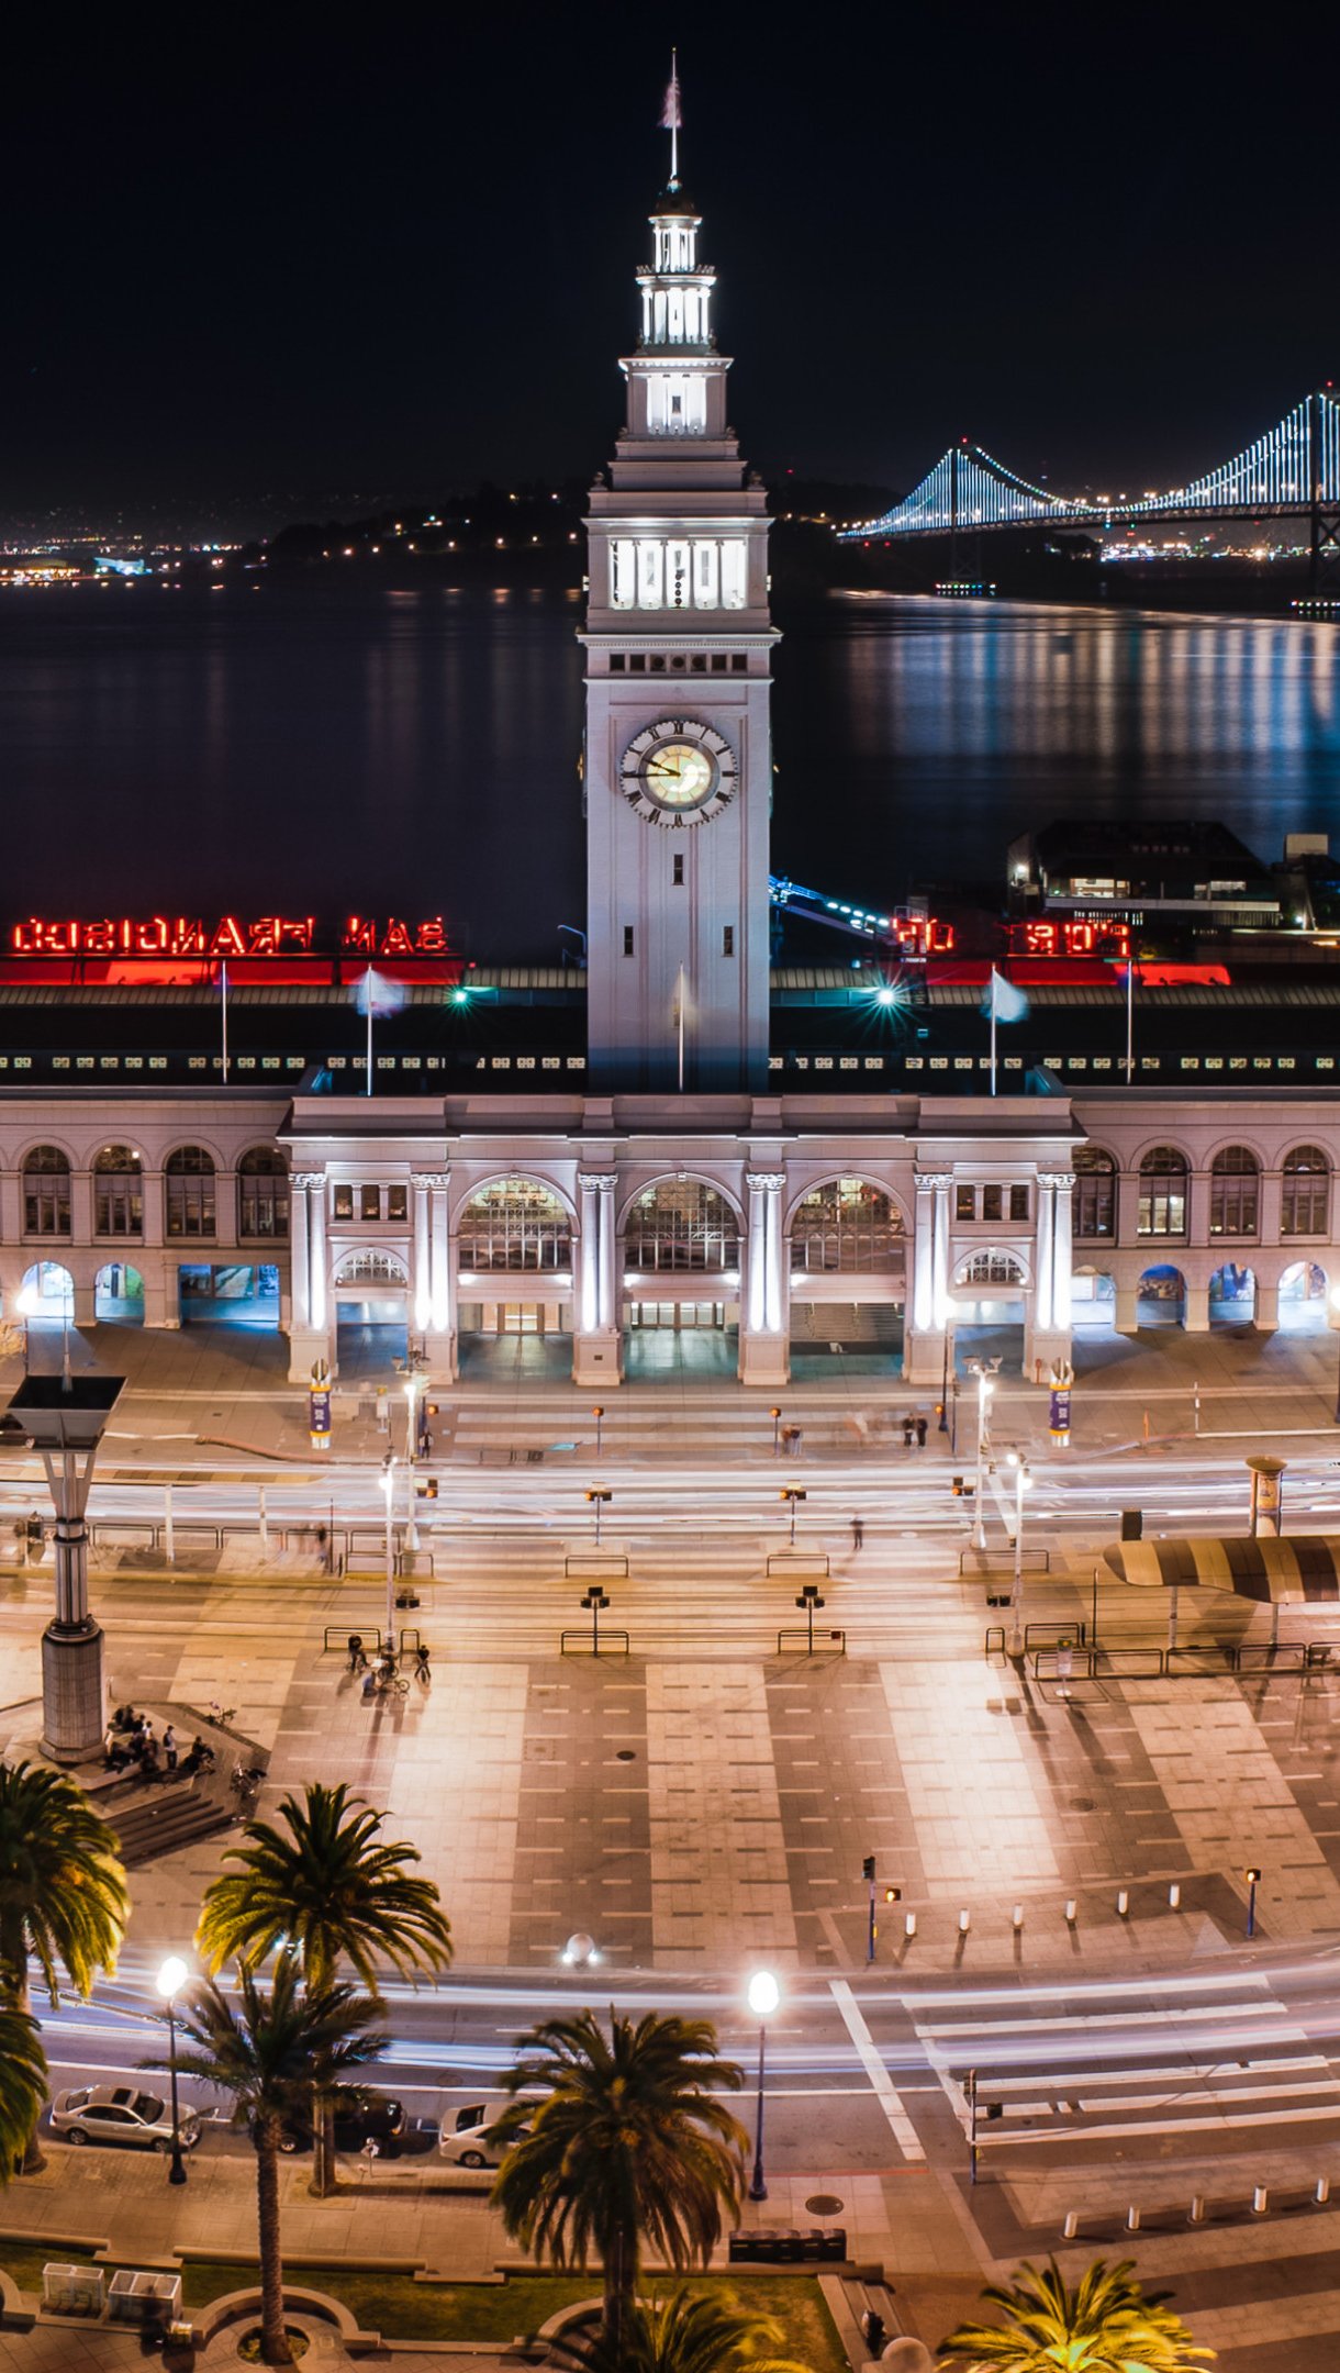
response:
M581 603L360 579L0 596L0 911L583 921ZM773 869L882 906L1058 814L1340 850L1340 629L832 596L783 617ZM840 942L835 942L837 952Z

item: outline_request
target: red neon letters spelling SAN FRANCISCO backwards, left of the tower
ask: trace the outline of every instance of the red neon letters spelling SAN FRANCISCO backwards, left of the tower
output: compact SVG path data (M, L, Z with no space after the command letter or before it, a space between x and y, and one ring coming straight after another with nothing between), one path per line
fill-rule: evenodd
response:
M206 923L199 916L28 916L9 928L14 956L311 956L315 916L235 916ZM358 916L344 921L339 947L363 956L446 956L446 925L439 914L417 923L401 916Z

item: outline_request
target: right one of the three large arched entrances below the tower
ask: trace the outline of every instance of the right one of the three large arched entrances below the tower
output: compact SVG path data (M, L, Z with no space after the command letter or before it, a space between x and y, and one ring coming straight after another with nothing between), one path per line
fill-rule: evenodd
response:
M882 1186L835 1177L811 1186L790 1217L792 1381L832 1374L889 1376L904 1350L904 1215Z

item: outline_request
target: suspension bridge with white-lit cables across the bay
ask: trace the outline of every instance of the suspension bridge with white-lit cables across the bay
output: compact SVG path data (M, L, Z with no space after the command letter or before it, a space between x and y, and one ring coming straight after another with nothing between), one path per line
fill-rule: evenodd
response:
M1340 577L1340 394L1316 387L1243 453L1167 494L1067 496L1029 484L963 437L920 486L847 543L958 536L1006 527L1108 529L1141 520L1307 520L1312 591Z

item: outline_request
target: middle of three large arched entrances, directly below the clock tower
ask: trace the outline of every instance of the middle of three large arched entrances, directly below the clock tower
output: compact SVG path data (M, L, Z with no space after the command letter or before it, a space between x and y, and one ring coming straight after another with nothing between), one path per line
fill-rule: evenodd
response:
M645 1186L624 1220L624 1372L631 1381L733 1376L740 1217L707 1179Z

